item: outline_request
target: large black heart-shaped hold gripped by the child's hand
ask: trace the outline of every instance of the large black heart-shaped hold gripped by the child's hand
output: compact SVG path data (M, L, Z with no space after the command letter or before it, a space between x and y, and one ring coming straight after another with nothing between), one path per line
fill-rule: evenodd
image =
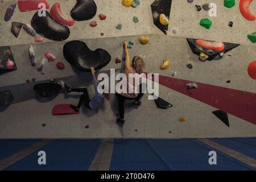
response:
M81 71L90 72L90 68L101 69L109 64L111 56L104 49L92 51L79 40L68 42L63 47L65 59Z

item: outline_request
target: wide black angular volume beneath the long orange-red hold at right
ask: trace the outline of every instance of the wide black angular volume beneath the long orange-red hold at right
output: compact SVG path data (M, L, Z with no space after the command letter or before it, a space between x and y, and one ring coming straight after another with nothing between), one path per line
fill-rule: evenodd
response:
M208 59L209 61L212 61L214 59L222 59L224 53L226 52L229 52L231 51L232 49L240 46L240 44L233 44L233 43L225 43L224 42L224 51L222 51L221 53L220 52L217 52L217 51L214 51L214 50L211 50L211 49L205 49L203 47L200 47L197 43L196 43L196 40L197 39L188 39L187 38L187 41L188 41L188 44L189 44L189 47L191 48L191 51L193 53L195 53L195 55L198 55L200 56L200 53L203 52L205 53L206 55L208 55ZM208 41L208 40L206 40Z

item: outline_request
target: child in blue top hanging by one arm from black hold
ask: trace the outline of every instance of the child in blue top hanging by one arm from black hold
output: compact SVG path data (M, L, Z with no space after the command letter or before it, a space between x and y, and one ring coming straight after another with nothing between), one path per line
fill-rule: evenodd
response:
M93 85L94 85L94 90L95 90L95 96L92 98L92 100L90 100L89 98L89 94L86 88L70 88L68 85L65 84L65 89L67 91L67 93L71 93L71 92L82 92L82 96L80 97L79 100L79 104L77 106L75 105L71 105L71 108L73 110L75 110L76 112L78 112L80 110L80 107L82 106L82 102L85 103L85 106L88 109L97 109L98 107L100 107L103 103L104 103L104 98L106 97L107 99L109 99L109 94L107 93L98 93L98 82L96 80L96 76L95 76L95 70L92 67L91 68L92 71L92 76L93 76Z

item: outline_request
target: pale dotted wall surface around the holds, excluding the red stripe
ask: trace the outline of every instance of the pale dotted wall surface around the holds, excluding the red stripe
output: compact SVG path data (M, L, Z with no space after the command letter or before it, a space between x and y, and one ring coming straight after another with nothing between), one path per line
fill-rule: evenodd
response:
M116 56L122 56L123 41L132 40L134 46L130 49L130 55L145 57L146 72L172 77L172 73L176 71L174 78L255 93L255 80L249 77L247 65L255 59L256 51L255 46L247 40L247 34L254 32L256 27L255 22L249 22L241 16L238 1L232 9L226 9L222 1L210 1L217 4L218 16L210 18L213 20L213 26L207 30L199 26L201 18L209 18L207 11L198 12L195 8L195 4L203 5L206 1L187 3L185 0L174 0L170 33L166 36L152 21L150 4L153 1L141 0L141 5L133 9L122 6L121 1L96 0L98 11L94 19L98 22L97 27L90 27L90 20L76 22L67 41L47 40L46 43L39 44L34 44L34 39L23 30L18 39L10 33L11 21L2 20L9 2L0 2L0 45L11 46L18 70L0 75L0 91L13 90L15 97L14 104L6 110L0 110L0 138L255 137L256 125L228 114L230 127L227 127L212 114L217 108L164 86L160 86L159 95L174 105L171 109L158 109L154 101L147 100L145 94L139 109L131 107L131 102L126 103L126 124L120 129L115 124L118 111L114 94L111 94L110 100L105 100L105 105L97 111L83 108L79 115L52 116L53 106L76 104L79 95L67 96L60 93L54 100L42 102L35 98L32 90L34 83L26 84L27 79L35 77L37 82L56 79L64 80L71 86L88 86L91 84L90 73L78 71L64 59L63 45L69 40L82 40L92 50L105 49L112 56L112 60L101 71L108 73L110 68L121 67L121 64L115 64L114 59ZM57 1L48 2L52 5ZM61 9L68 15L75 1L61 1L61 5ZM251 9L254 10L255 7L256 3L251 3ZM20 13L16 9L11 20L29 23L34 13L35 11ZM106 14L108 18L101 21L98 18L100 13ZM134 15L139 17L137 24L133 22ZM233 28L228 26L230 20L234 22ZM123 24L121 31L115 29L118 23ZM176 29L177 34L173 34L172 29ZM100 32L105 35L101 36ZM139 37L146 34L150 36L150 42L142 45L139 43ZM201 62L198 56L192 53L186 38L220 40L240 43L241 46L226 53L224 59ZM46 51L51 51L57 57L53 63L47 61L43 68L45 75L31 67L28 59L29 44L33 44L35 48L37 61ZM164 59L171 60L171 68L160 71L159 66ZM64 70L56 68L57 61L65 64ZM193 64L193 69L188 69L187 64ZM227 83L228 80L231 82ZM90 96L93 96L92 85L88 87ZM186 121L181 123L180 117L185 117ZM43 123L46 127L42 126ZM86 125L89 125L89 129L85 128Z

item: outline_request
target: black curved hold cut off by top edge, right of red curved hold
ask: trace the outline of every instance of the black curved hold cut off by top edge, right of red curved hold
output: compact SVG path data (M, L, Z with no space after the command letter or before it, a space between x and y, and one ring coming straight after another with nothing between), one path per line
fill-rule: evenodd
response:
M97 13L97 5L93 0L76 0L71 17L76 21L92 19Z

